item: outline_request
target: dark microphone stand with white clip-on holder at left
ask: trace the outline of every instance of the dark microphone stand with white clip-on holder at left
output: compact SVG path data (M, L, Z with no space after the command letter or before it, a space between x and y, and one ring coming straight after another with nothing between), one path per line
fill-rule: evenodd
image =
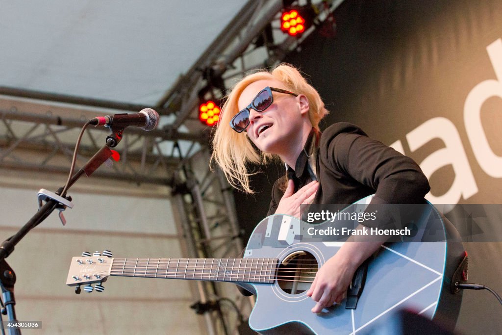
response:
M67 190L84 173L87 177L89 177L99 166L101 166L101 164L111 157L112 152L109 147L113 148L118 144L118 142L120 142L122 139L122 132L123 128L119 130L112 130L112 134L106 139L106 145L99 149L99 151L87 161L84 167L71 177L68 182ZM5 259L14 251L14 247L19 243L19 241L21 241L29 231L37 227L44 219L46 219L54 211L54 209L58 208L60 210L60 217L62 216L61 212L65 210L68 204L71 204L71 202L69 202L71 201L71 197L66 196L66 194L61 194L62 191L63 187L60 187L56 194L49 192L51 195L48 195L48 198L46 198L47 202L39 208L38 212L33 215L26 225L24 225L19 232L5 240L2 245L0 245L0 286L2 287L2 300L5 304L5 307L2 308L1 312L4 315L7 314L8 322L10 323L18 322L16 319L16 311L14 310L14 305L16 304L16 300L14 299L16 274L9 264L7 264ZM61 220L64 225L64 218L61 217ZM2 323L2 333L4 333L4 329L4 324ZM21 330L18 327L9 327L8 330L11 335L21 334Z

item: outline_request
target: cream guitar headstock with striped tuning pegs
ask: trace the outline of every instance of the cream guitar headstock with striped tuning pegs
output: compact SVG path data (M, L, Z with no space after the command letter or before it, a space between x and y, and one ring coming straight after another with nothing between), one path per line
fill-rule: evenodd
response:
M84 284L86 285L85 291L91 292L93 288L90 284L98 283L95 288L96 291L101 292L104 289L101 283L110 275L112 261L111 252L108 250L103 251L102 256L99 252L94 252L92 256L89 252L83 252L82 256L73 257L66 285L80 286Z

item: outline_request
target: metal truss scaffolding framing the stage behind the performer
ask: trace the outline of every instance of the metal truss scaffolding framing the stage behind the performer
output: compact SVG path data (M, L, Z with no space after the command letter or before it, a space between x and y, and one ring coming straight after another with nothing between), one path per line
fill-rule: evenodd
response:
M169 117L171 121L151 132L127 129L117 149L120 162L108 170L98 169L93 177L169 187L178 216L176 224L185 238L183 256L236 257L243 242L239 237L232 191L222 173L216 167L211 170L207 164L210 130L195 116L199 93L211 83L208 69L211 75L228 81L251 69L281 61L341 2L318 2L317 24L298 39L279 31L276 19L282 0L249 0L155 106L0 87L0 100L1 95L6 97L5 107L0 107L0 169L68 173L75 139L85 118L75 118L78 113L48 114L47 103L57 102L62 106L60 109L85 110L83 114L89 116L98 114L96 108L106 108L107 114L113 114L152 107L161 118ZM34 110L23 101L30 101ZM43 106L37 107L38 103ZM89 106L94 109L89 110ZM86 132L77 165L104 144L100 141L107 131L93 128ZM229 316L234 311L214 307L219 305L225 289L218 283L195 285L194 297L199 300L199 307L206 308L201 307L199 312L204 315L208 333L235 333L236 318ZM234 306L250 309L249 298L237 299Z

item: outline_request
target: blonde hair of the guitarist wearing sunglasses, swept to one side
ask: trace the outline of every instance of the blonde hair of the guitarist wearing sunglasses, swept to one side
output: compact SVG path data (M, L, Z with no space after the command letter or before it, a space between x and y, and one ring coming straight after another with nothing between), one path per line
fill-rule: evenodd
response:
M213 153L211 161L215 160L225 174L228 182L237 189L254 193L249 186L249 163L266 163L274 155L257 151L247 138L245 132L236 133L228 125L239 109L238 99L242 91L251 83L259 80L279 80L285 87L297 94L304 94L309 102L308 116L312 127L319 130L319 122L328 114L319 93L312 87L302 74L290 64L280 64L272 71L262 70L245 76L228 94L222 107L220 120L213 137Z

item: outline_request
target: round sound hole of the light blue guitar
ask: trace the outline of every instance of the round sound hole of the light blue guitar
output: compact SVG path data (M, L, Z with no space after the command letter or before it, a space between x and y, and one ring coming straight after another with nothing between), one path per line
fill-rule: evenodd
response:
M293 253L279 265L277 282L284 292L299 294L310 288L318 269L317 260L312 254Z

